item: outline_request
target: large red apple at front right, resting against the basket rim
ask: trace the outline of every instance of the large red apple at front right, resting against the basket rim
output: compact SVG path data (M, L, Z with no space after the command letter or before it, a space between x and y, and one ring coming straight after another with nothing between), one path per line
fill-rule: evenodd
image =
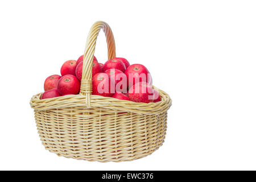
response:
M131 86L128 95L131 101L148 103L152 101L153 88L147 82L137 82Z

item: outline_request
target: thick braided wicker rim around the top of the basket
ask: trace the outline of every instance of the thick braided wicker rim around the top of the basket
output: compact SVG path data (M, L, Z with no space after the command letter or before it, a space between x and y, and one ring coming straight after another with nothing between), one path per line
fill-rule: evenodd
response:
M154 89L158 89L153 86ZM82 94L67 95L54 98L46 98L41 100L42 93L32 96L30 105L35 110L51 110L51 109L64 109L67 107L84 107L94 109L110 109L113 112L128 111L137 114L160 114L167 111L171 105L172 100L170 96L163 90L158 89L161 96L159 102L133 102L126 100L118 100L113 97L103 97L97 95L90 96L90 106L85 102L85 96Z

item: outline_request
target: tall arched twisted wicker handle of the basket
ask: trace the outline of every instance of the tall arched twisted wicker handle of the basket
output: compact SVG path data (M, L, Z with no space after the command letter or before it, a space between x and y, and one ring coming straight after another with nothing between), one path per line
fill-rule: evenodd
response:
M80 94L85 96L85 102L88 106L90 106L90 95L92 93L93 56L96 40L101 28L105 32L106 42L108 44L108 59L113 59L115 57L115 40L111 28L105 22L98 21L94 23L90 28L90 32L86 40L80 88Z

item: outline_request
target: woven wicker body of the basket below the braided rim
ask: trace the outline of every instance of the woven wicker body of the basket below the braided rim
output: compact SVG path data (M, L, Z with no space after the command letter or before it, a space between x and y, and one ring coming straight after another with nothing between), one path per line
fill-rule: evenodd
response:
M122 162L152 154L164 142L167 112L73 114L35 110L42 144L65 158Z

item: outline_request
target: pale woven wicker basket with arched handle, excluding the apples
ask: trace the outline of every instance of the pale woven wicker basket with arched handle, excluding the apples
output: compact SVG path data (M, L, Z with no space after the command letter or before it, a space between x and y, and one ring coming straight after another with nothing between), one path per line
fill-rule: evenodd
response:
M101 28L108 59L115 57L109 25L94 23L86 42L80 94L40 100L39 93L31 98L38 133L44 147L59 156L100 162L139 159L162 146L171 98L162 90L162 100L149 104L91 95L92 61Z

